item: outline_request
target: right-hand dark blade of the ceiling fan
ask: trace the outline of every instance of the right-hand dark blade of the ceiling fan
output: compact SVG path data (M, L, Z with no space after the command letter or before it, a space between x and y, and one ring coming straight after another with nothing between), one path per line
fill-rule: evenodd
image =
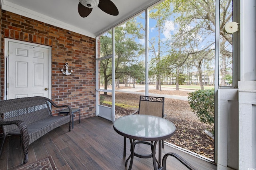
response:
M116 5L111 0L100 0L98 7L102 11L112 16L117 16L119 14L118 9L116 8Z

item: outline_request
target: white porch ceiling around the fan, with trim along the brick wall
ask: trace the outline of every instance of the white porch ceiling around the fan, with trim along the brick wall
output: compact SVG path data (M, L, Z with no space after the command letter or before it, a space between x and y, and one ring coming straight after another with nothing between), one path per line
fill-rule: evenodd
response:
M2 10L95 38L110 27L130 18L160 0L111 0L119 15L93 8L86 18L78 14L79 0L1 0Z

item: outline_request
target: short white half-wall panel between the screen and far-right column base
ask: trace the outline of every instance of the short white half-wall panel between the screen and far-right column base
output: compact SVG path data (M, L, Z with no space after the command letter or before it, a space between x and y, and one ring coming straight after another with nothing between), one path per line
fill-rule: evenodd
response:
M238 89L218 89L218 170L238 169Z

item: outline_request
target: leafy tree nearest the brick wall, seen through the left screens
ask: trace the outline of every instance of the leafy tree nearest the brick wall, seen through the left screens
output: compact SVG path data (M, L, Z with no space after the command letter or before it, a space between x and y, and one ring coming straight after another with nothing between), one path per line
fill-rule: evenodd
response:
M144 53L144 47L136 41L143 38L140 33L141 25L135 19L129 20L123 25L115 28L115 78L122 78L124 74L129 75L127 66L136 63L140 55ZM112 31L100 36L101 56L112 55ZM100 62L100 74L104 76L104 89L107 89L108 82L112 80L112 59L105 59ZM104 93L106 94L106 93Z

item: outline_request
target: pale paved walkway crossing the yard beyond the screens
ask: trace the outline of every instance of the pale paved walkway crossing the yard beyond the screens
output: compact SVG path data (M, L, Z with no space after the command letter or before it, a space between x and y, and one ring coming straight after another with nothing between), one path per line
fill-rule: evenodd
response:
M155 86L148 86L148 88L149 88L149 90L156 89ZM145 86L144 85L136 85L135 88L126 88L126 89L116 90L116 92L124 92L124 93L145 95L144 92L138 92L140 90L145 90ZM174 89L174 88L163 88L162 87L162 90L176 90L176 89ZM190 90L190 89L179 89L179 90L194 92L194 90ZM155 93L149 93L148 95L149 96L165 97L165 98L170 98L170 99L178 99L178 100L188 101L187 96L155 94Z

